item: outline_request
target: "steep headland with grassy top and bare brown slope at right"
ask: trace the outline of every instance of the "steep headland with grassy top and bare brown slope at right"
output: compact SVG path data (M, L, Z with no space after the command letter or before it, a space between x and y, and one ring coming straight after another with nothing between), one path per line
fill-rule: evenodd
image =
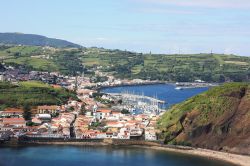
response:
M250 84L227 83L173 106L158 122L168 144L250 154Z

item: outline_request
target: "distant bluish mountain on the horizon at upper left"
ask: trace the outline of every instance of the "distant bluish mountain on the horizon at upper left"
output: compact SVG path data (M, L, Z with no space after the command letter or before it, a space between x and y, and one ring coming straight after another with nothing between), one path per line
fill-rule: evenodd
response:
M0 33L1 44L30 45L30 46L51 46L51 47L76 47L78 44L66 40L48 38L41 35L22 34L22 33Z

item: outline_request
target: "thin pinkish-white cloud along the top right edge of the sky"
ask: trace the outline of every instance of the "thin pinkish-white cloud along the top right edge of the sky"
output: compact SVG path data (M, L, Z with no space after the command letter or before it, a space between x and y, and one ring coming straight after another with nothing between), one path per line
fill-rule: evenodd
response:
M184 7L250 9L249 0L137 0L152 4Z

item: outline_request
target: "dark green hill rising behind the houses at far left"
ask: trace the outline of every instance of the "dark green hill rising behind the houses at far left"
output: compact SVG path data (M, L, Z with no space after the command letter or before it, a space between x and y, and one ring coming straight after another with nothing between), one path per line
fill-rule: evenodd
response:
M21 107L25 104L31 106L62 104L69 98L76 99L76 95L63 88L53 88L41 82L20 82L19 85L0 82L0 110L6 107Z

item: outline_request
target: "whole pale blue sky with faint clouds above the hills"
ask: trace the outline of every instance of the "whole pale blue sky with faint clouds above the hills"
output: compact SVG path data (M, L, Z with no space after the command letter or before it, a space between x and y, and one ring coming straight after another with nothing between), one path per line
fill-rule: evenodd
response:
M250 56L250 0L1 0L0 22L86 47Z

